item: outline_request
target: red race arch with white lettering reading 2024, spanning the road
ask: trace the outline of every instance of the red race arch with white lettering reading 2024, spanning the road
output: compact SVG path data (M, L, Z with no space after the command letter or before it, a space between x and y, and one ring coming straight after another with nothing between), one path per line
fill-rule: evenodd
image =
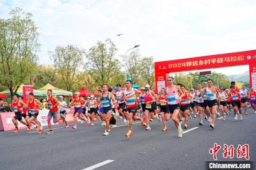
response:
M166 75L211 68L249 65L250 85L256 90L256 50L209 55L188 59L155 62L155 86L157 92L167 86Z

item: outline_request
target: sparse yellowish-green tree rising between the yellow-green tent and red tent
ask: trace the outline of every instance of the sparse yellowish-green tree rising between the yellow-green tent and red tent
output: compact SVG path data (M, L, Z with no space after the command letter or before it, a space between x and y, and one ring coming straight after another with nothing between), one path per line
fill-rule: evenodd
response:
M83 56L85 50L77 46L57 46L54 51L48 52L50 59L54 60L54 66L61 75L67 91L71 91L73 86L81 80Z

